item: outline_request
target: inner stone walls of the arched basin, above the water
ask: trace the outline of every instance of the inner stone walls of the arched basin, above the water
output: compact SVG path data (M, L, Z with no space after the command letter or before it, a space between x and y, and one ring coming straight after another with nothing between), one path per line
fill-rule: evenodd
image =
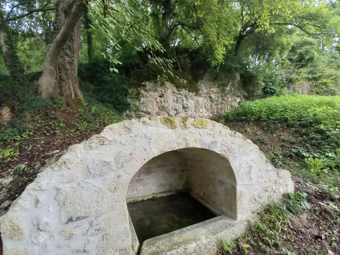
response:
M208 149L159 154L132 177L127 202L187 191L216 214L237 219L236 177L226 157Z

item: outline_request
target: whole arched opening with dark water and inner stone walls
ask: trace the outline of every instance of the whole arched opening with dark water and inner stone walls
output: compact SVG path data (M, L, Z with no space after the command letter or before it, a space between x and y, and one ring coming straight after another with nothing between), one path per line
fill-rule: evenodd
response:
M236 197L234 171L221 154L199 148L162 153L145 163L129 184L131 232L141 244L220 215L236 219Z

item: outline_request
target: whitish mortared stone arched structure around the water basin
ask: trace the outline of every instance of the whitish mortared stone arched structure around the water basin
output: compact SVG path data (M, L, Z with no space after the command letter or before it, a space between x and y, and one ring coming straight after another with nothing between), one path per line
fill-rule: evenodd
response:
M274 169L255 144L217 122L184 117L125 120L70 146L26 187L0 218L4 254L133 254L134 237L126 205L126 198L134 197L131 181L147 162L169 152L186 160L192 193L235 219L222 215L189 227L200 236L195 240L181 230L178 235L187 246L171 254L210 254L226 228L232 229L231 235L239 234L244 228L235 222L251 217L260 204L293 191L287 170ZM190 169L198 167L209 173L195 178L195 171ZM207 178L211 179L210 194L197 188ZM171 249L176 245L173 234L167 235L168 246L156 238L142 254L167 254L164 251L170 249L169 245ZM155 253L154 249L159 252L161 247L163 253Z

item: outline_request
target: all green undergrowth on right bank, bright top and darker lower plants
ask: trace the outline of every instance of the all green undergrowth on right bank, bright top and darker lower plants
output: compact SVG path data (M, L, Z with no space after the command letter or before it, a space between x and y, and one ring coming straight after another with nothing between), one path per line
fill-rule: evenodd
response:
M274 165L292 169L331 197L340 195L340 97L285 95L244 102L221 122L263 121L267 131L294 131L284 148L267 154Z

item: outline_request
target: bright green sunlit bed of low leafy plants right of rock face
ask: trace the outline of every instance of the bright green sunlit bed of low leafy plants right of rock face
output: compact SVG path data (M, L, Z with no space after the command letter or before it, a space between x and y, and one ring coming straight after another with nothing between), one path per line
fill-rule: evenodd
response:
M285 95L243 102L228 112L226 122L238 119L271 120L286 126L339 125L340 97Z

